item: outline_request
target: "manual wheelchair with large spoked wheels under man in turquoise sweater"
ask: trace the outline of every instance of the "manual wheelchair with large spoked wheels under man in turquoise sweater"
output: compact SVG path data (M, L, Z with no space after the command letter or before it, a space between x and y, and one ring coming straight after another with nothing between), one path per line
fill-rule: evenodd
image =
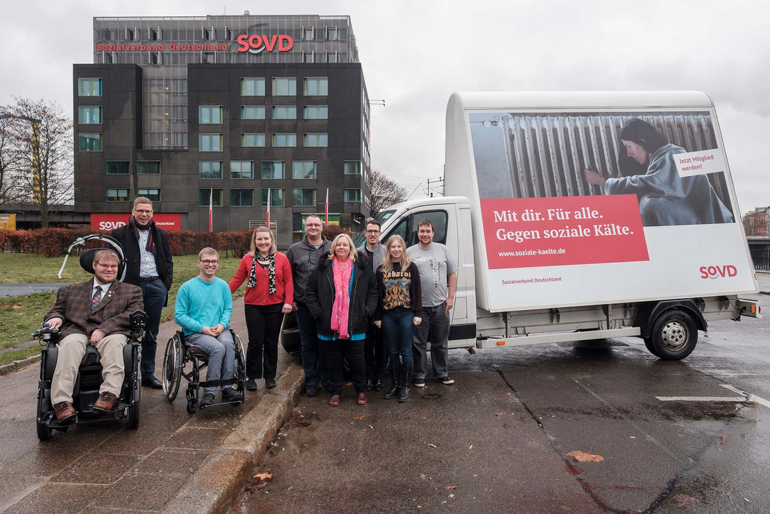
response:
M198 409L206 409L206 406L200 406L200 389L204 387L229 386L233 385L236 391L241 393L241 399L235 402L219 402L213 406L229 404L237 407L246 402L246 389L243 382L246 382L246 352L243 352L243 344L233 329L228 329L233 335L233 342L236 345L236 362L233 369L233 378L227 380L206 380L200 381L200 372L206 369L209 364L209 355L202 349L185 344L184 334L177 330L176 334L169 339L166 344L166 355L163 357L163 394L169 402L174 402L179 392L179 383L182 377L187 381L187 412L194 414ZM191 369L185 372L188 364L192 364Z

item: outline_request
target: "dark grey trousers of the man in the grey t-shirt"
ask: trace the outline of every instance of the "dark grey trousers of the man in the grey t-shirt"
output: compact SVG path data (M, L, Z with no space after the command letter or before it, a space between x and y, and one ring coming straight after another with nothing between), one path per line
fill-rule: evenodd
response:
M423 307L423 321L414 331L412 353L414 372L412 379L425 379L428 372L427 343L430 342L430 362L434 377L447 376L447 354L449 353L449 314L446 302L435 307Z

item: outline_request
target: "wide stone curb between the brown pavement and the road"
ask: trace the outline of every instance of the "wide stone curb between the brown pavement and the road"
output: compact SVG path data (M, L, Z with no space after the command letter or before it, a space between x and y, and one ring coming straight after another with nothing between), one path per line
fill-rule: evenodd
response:
M292 362L277 383L166 503L162 514L218 514L229 509L300 399L305 384L300 362Z

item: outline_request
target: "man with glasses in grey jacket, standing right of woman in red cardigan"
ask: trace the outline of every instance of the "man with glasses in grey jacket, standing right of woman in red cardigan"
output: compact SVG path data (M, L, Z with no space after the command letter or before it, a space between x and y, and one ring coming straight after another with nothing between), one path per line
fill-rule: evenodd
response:
M310 275L316 272L318 259L330 252L331 242L321 233L323 225L320 216L311 214L305 219L305 237L286 251L291 265L294 282L294 312L296 325L300 329L302 341L302 367L305 369L305 392L307 396L316 396L318 382L326 388L329 384L329 370L326 358L318 345L316 320L305 305L305 289Z

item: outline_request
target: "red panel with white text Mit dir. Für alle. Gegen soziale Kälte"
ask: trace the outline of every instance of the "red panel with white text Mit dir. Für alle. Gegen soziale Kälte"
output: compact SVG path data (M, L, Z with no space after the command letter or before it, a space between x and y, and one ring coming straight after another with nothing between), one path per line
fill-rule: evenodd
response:
M490 269L649 260L636 195L482 199Z

